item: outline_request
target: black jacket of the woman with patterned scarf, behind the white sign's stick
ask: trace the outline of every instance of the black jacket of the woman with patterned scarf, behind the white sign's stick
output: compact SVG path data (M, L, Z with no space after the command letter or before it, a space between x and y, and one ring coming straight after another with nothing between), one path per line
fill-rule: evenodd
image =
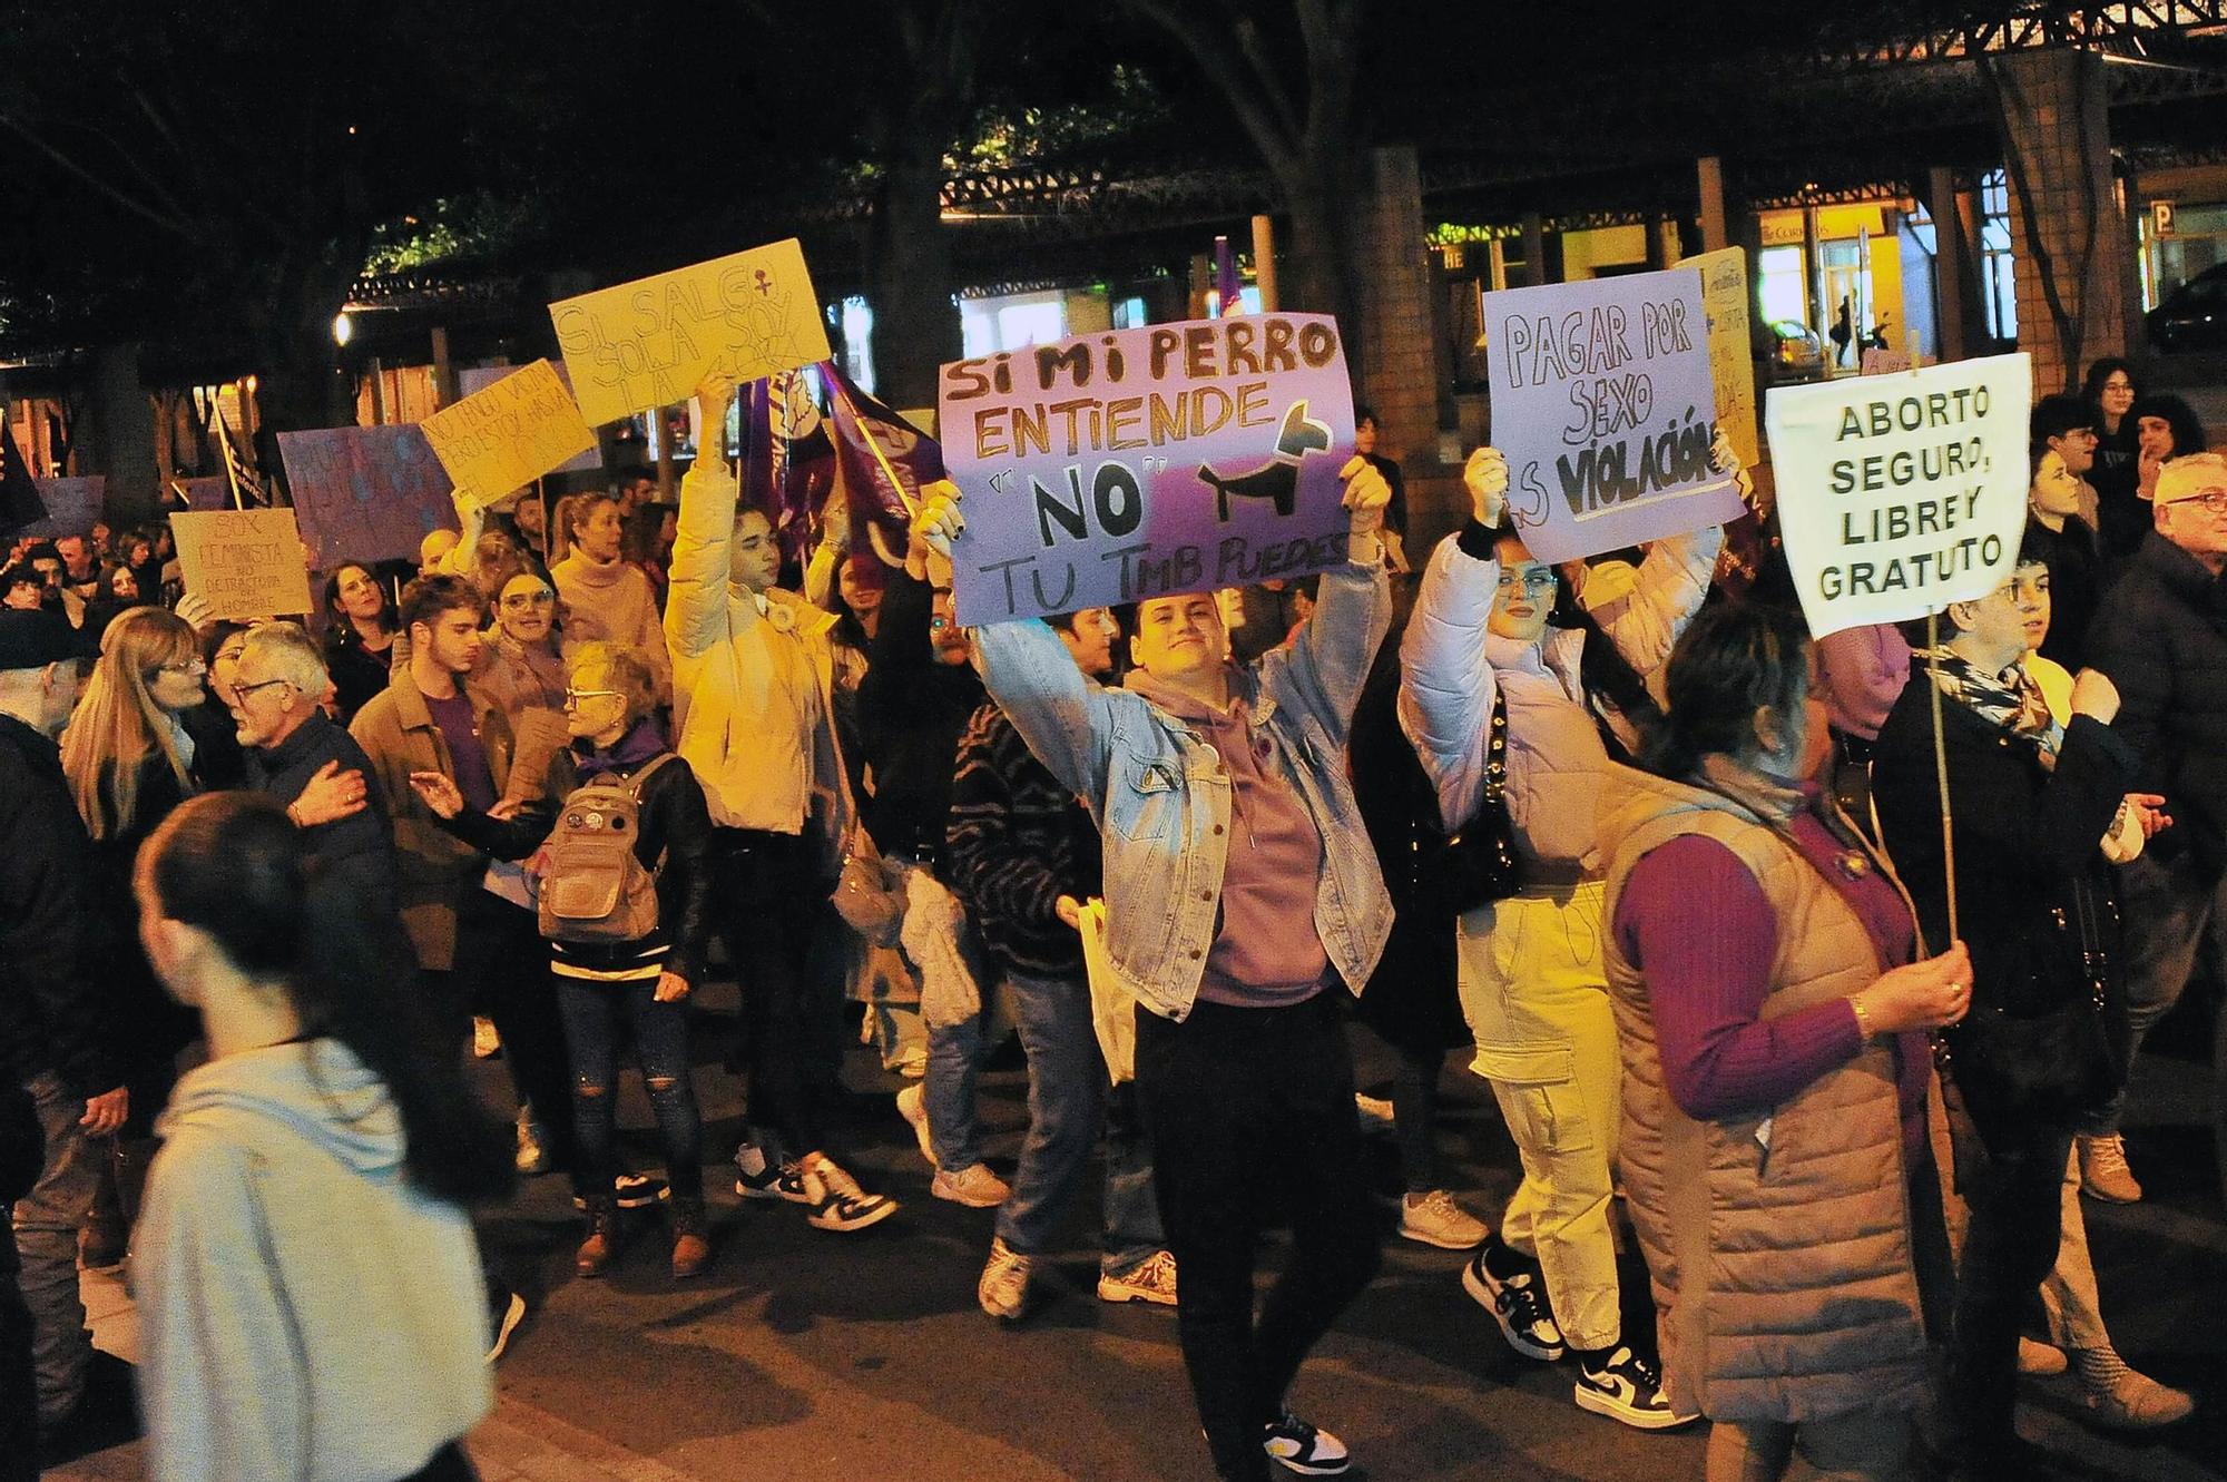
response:
M1871 794L1886 852L1917 906L1929 950L1937 952L1949 943L1949 892L1929 683L1924 670L1913 670L1880 728ZM2033 1021L2091 999L2100 979L2102 1033L2125 1066L2118 908L2102 834L2133 786L2133 752L2111 728L2073 717L2051 772L2033 741L1946 699L1942 739L1958 930L1971 950L1971 1012L1949 1030L1951 1070L1982 1137L1993 1142L1991 1130L2015 1128L2033 1108L2018 1086L1989 1070L2031 1053L2024 1039L2013 1039L2015 1030L2004 1030L2004 1019ZM2051 1064L2015 1070L2029 1084L2071 1073Z

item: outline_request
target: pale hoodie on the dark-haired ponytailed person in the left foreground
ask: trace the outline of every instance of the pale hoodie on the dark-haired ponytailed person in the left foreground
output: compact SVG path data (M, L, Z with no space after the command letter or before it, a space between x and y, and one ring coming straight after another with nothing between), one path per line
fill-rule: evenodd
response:
M492 1404L463 1211L336 1039L178 1081L134 1239L156 1482L392 1482Z

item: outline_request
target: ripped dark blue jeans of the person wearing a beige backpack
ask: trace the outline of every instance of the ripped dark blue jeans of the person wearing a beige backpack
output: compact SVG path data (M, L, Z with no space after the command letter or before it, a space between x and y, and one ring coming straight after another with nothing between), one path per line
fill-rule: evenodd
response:
M619 1039L635 1030L641 1081L666 1144L666 1179L675 1199L704 1197L704 1119L688 1075L688 1006L659 1004L657 981L592 984L557 977L557 1012L572 1053L572 1190L610 1197L619 1177Z

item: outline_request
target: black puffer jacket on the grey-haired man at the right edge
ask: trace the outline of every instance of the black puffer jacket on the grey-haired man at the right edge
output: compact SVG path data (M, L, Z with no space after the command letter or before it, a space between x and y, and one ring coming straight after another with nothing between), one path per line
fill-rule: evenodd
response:
M2165 794L2174 828L2149 848L2227 861L2227 581L2158 532L2102 599L2089 668L2118 685L2113 732L2140 757L2138 786Z

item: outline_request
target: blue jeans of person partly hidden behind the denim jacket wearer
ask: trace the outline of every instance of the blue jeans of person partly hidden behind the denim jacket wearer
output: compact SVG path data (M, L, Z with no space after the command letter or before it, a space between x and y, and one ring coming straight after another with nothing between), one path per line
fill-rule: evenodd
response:
M1118 1095L1107 1095L1089 984L1022 972L1009 975L1007 984L1013 990L1020 1048L1029 1055L1029 1139L1020 1146L1013 1193L998 1208L998 1237L1024 1255L1053 1248L1102 1126L1107 1190L1100 1266L1107 1273L1129 1271L1165 1244L1151 1193L1151 1144L1136 1115L1136 1088L1120 1086Z

